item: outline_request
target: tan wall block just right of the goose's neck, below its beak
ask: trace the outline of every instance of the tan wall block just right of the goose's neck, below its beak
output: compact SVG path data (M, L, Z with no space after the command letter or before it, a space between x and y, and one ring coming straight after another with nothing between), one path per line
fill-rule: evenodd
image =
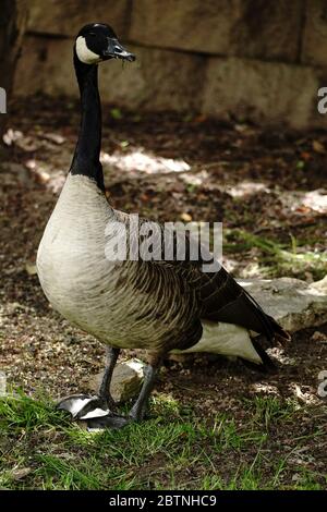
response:
M104 101L134 109L193 111L198 108L198 82L205 73L205 58L133 45L129 49L136 54L135 63L123 69L120 61L99 66Z

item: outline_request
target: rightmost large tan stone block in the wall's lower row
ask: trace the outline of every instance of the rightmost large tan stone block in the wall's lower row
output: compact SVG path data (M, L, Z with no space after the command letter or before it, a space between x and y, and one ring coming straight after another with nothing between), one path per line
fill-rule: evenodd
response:
M286 122L301 129L307 126L313 117L316 122L326 122L316 110L317 89L318 76L312 68L210 58L201 110L258 123Z

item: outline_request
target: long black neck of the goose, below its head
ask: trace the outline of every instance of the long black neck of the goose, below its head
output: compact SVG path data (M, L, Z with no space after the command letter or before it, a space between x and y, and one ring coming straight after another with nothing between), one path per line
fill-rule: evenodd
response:
M82 121L71 174L83 174L105 191L101 147L101 103L98 90L98 66L83 64L74 50L74 66L81 93Z

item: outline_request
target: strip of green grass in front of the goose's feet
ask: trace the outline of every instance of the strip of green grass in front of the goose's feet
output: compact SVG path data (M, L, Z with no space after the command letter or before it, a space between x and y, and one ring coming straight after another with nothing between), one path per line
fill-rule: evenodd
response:
M227 414L195 417L167 395L154 417L122 430L88 432L45 397L0 400L2 489L322 489L326 475L291 460L322 435L291 444L278 429L298 422L277 398L244 402L238 423Z

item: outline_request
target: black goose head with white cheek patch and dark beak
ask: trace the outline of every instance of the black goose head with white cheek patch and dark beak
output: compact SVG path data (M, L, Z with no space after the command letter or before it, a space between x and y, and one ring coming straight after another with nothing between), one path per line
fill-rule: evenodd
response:
M113 29L104 23L85 25L77 34L75 41L77 59L84 64L98 64L109 59L121 59L130 62L135 56L119 42Z

